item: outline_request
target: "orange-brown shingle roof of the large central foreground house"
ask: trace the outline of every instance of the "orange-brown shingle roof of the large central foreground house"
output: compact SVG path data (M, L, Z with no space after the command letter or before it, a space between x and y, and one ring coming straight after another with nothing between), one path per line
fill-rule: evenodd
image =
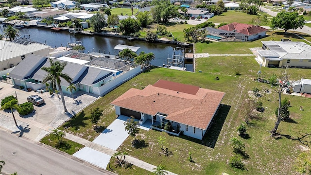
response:
M165 88L157 87L165 83ZM155 86L156 85L156 86ZM167 120L194 126L203 130L213 118L225 93L196 87L195 94L183 92L194 86L159 80L143 90L131 88L111 104L155 116L158 112L167 114ZM178 85L178 91L168 89ZM177 93L178 92L178 93Z

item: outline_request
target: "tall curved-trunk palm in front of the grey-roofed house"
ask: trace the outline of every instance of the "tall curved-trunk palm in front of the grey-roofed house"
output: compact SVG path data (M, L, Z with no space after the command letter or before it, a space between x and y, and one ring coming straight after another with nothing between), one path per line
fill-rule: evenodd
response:
M62 103L64 105L64 111L67 112L66 104L65 104L65 99L64 99L64 94L62 87L60 85L60 78L65 79L68 83L71 83L72 78L69 77L69 75L62 73L62 71L65 69L65 66L67 65L66 62L59 62L55 61L50 58L50 67L42 67L41 70L46 71L48 74L46 77L43 79L42 83L46 83L48 81L56 81L58 90L60 92L60 96L62 98ZM53 84L53 83L52 83Z

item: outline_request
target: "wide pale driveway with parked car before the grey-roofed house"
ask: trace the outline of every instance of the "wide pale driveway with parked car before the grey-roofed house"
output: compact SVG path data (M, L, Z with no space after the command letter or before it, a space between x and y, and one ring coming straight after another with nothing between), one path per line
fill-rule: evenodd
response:
M39 106L34 105L35 111L27 116L19 116L18 112L14 111L17 124L20 125L22 131L15 126L11 111L0 111L1 127L13 132L19 132L20 135L36 141L41 140L45 135L49 134L52 129L57 128L72 115L79 112L99 97L79 91L75 95L76 101L73 101L70 95L65 95L68 113L64 113L62 101L57 98L56 94L51 96L48 92L44 92L43 94L36 93L35 91L28 92L3 82L0 82L0 88L0 99L9 95L16 96L17 94L19 104L27 102L27 97L30 95L39 95L44 99L45 104Z

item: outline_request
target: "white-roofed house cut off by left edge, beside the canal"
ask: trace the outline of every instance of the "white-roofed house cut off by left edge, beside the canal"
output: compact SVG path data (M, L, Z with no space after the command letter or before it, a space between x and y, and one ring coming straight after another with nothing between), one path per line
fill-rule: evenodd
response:
M0 70L17 66L27 55L49 55L50 46L29 39L0 40Z

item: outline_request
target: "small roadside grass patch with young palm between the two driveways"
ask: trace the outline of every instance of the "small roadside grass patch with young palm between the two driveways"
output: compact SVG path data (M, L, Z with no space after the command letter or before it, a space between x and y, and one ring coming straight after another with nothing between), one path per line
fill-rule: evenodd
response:
M56 149L59 149L60 151L63 151L65 153L68 153L69 155L73 155L75 152L79 151L84 147L84 145L76 143L71 140L63 139L63 143L61 146L59 146L58 141L51 140L50 135L47 135L42 140L40 140L41 143L44 143L46 145L50 145Z

